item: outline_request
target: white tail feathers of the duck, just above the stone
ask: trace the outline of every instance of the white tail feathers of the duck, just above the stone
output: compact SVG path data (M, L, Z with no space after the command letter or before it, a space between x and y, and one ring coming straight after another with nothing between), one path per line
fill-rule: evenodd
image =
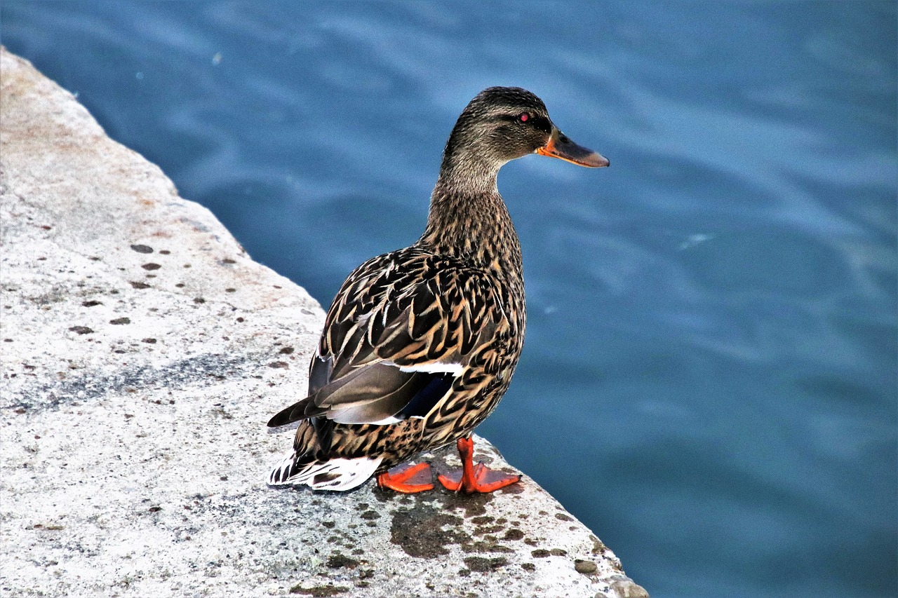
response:
M331 459L315 462L302 469L294 467L295 455L290 454L271 471L269 486L308 486L313 490L351 490L370 478L383 457L358 457L356 459Z

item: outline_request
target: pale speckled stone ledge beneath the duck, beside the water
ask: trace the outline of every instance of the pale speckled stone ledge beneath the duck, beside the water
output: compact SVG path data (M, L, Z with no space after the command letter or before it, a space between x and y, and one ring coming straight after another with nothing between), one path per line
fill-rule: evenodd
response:
M526 477L268 488L321 307L28 62L0 77L0 594L646 595Z

